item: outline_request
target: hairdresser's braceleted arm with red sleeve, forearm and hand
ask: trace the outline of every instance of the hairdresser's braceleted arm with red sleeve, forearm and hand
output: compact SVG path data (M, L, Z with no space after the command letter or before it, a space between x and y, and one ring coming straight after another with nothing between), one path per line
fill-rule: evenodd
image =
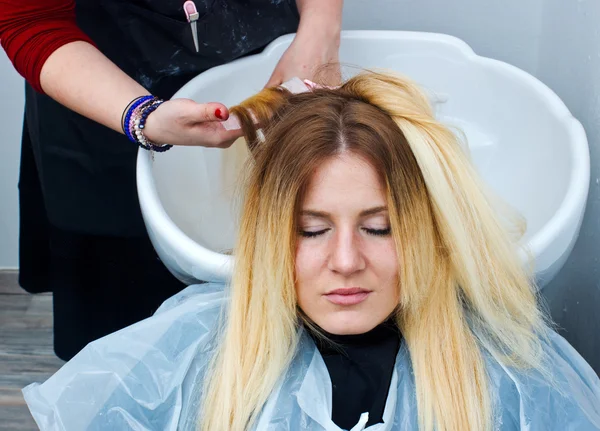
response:
M106 58L77 26L74 0L0 0L0 44L17 71L59 103L121 132L121 114L148 91ZM146 135L157 143L228 146L221 104L169 101L148 117Z

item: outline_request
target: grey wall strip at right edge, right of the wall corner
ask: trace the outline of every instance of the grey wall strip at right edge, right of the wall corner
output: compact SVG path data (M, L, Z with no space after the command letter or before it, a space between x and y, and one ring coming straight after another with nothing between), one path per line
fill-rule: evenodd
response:
M545 0L536 76L582 122L591 153L591 182L579 240L544 289L563 335L600 374L600 2Z

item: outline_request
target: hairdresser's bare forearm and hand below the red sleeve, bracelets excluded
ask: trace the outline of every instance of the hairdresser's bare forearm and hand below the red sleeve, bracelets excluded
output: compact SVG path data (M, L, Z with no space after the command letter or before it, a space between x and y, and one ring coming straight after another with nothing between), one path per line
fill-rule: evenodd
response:
M50 97L92 120L121 132L127 104L148 91L89 43L78 41L58 48L42 67L41 87ZM227 147L239 131L225 130L216 117L228 110L220 103L187 99L165 102L146 122L146 136L159 144Z

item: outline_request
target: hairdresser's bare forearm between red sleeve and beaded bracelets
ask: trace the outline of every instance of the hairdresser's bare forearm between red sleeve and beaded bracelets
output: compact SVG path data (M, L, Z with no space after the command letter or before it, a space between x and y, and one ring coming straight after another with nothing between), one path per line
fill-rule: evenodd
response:
M48 57L40 75L44 92L66 107L121 131L127 104L148 91L87 42L61 46Z

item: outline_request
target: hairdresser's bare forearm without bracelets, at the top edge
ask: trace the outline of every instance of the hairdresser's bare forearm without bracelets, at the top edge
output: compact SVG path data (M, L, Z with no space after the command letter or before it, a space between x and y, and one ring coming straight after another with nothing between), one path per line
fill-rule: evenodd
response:
M298 36L317 36L339 43L343 0L296 0L300 13Z

